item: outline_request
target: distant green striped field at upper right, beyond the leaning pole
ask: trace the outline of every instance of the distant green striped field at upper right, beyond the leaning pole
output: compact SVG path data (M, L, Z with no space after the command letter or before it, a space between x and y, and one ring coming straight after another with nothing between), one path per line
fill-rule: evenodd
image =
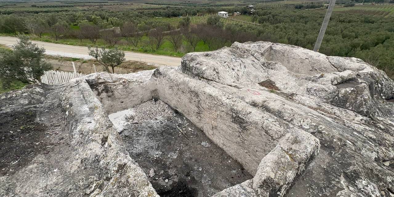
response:
M394 5L355 5L335 8L334 11L391 17L394 16Z

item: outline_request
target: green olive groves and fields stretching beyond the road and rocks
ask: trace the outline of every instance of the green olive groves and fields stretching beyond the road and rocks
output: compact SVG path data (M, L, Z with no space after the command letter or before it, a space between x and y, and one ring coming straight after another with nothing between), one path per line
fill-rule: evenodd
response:
M32 39L41 41L84 46L99 45L107 48L118 46L122 50L171 56L183 56L192 51L216 50L230 46L234 41L271 41L312 49L326 11L322 4L283 4L275 1L271 3L257 4L253 14L250 14L245 6L219 3L134 7L116 11L112 11L113 7L110 6L104 6L102 9L96 6L94 9L82 10L79 10L81 7L72 7L75 10L52 13L14 12L0 15L0 33L15 35L22 32L32 35ZM136 5L128 4L123 7L128 6ZM366 13L375 8L376 11L384 11L385 14ZM379 11L378 8L384 10ZM363 11L354 11L357 9ZM386 14L392 13L390 10L391 7L381 5L336 8L319 52L329 56L361 58L393 77L394 17ZM203 19L195 17L215 15L217 11L239 11L244 15L232 17L241 22L214 19L215 17L209 16ZM186 16L190 16L191 20L189 21ZM113 26L120 26L122 31L129 32L121 32L118 35L98 33L99 29ZM40 32L32 31L33 28L39 29ZM183 29L165 33L177 28ZM149 31L151 29L154 31ZM82 35L85 30L94 30L98 33L95 41L87 38L87 35Z

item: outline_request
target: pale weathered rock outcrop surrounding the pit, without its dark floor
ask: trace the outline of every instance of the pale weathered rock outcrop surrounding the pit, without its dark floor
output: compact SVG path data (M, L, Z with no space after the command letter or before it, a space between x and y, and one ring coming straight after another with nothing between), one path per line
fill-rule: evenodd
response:
M29 93L32 99L13 99ZM65 189L49 188L61 182L72 196L158 196L107 116L151 99L182 113L254 175L214 197L394 196L394 82L357 58L234 43L186 54L177 69L101 72L0 98L7 113L58 98L63 113L50 115L64 124L58 130L70 151L58 159L58 181L46 170L52 179L33 173L39 179L26 186L33 180L23 174L40 165L34 160L1 174L4 196L56 196Z

